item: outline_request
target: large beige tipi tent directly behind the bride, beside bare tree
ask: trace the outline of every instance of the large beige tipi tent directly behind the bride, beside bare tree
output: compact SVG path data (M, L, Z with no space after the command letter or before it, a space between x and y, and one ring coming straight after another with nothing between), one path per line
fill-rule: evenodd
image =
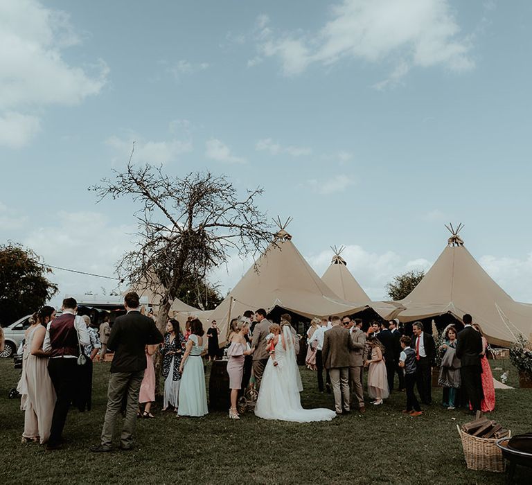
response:
M296 249L292 236L285 231L287 223L279 225L280 230L263 255L211 315L221 330L221 342L227 335L229 319L245 310L270 311L277 306L311 318L366 308L337 297Z

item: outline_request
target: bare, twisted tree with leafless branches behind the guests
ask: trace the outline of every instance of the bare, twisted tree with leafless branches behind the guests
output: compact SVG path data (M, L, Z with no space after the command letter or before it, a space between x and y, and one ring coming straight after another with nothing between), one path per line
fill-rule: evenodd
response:
M239 200L225 176L206 172L170 177L161 166L136 167L131 158L124 172L113 171L114 179L103 179L89 190L98 195L98 202L131 197L139 206L134 212L139 240L118 263L118 272L132 283L163 286L157 315L160 330L188 275L205 278L227 260L229 252L255 254L269 243L265 214L256 205L262 188L247 191Z

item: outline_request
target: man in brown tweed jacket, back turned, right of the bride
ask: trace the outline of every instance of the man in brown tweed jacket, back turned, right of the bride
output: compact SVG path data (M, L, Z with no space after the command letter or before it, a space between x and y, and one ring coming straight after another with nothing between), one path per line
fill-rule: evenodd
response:
M336 414L348 413L349 407L349 330L332 317L332 327L323 335L323 365L329 371Z

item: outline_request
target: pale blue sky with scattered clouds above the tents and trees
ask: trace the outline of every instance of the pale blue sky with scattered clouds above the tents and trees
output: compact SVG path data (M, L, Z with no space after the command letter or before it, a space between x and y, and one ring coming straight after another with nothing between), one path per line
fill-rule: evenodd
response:
M532 301L532 3L0 0L0 243L115 276L134 164L264 188L321 276L331 245L373 299L450 236ZM211 274L222 292L251 258ZM112 280L55 270L60 293Z

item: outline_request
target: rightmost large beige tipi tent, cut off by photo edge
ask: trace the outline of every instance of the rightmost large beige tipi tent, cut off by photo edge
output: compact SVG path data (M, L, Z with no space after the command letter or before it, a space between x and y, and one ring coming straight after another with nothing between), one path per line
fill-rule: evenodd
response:
M414 290L401 301L406 310L400 321L415 321L450 313L461 320L465 313L478 323L488 342L507 346L520 333L529 337L532 308L514 301L465 249L456 230L436 263Z

